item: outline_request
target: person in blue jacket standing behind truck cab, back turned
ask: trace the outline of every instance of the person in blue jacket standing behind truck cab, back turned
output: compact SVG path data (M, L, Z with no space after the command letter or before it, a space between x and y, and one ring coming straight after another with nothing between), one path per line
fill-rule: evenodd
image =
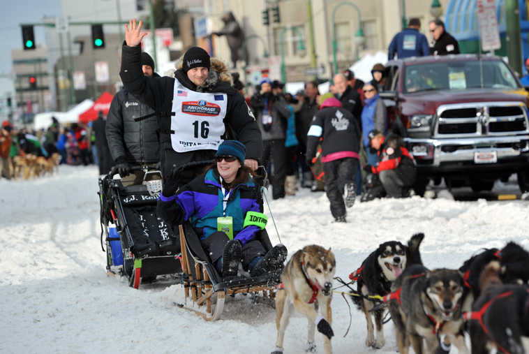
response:
M430 54L428 40L424 34L419 32L421 21L418 18L410 18L408 27L398 32L389 43L387 59L393 60L395 54L398 59L408 57L424 57Z

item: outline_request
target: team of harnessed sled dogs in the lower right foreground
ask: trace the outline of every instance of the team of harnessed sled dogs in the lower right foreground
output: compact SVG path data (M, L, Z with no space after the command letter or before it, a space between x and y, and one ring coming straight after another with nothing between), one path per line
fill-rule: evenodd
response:
M514 242L502 249L482 249L459 270L430 270L419 246L424 234L408 244L378 246L344 283L366 317L365 344L385 345L383 318L389 311L398 353L529 353L529 252ZM305 246L288 261L276 294L276 348L283 338L292 307L308 319L307 352L315 352L315 330L324 336L325 353L332 353L332 283L336 260L331 249ZM340 279L341 280L341 279ZM351 286L356 283L356 289ZM374 325L373 325L374 318ZM471 351L465 344L470 337Z

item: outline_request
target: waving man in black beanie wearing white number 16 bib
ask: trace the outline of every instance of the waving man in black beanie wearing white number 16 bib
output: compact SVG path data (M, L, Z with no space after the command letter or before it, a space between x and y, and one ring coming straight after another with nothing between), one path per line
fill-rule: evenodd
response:
M191 47L174 78L147 78L140 46L147 34L140 33L141 27L136 20L125 25L120 76L125 88L160 117L163 194L172 196L213 162L226 133L244 143L244 165L255 171L262 154L261 133L244 97L230 87L225 66L213 59L211 67L209 54Z

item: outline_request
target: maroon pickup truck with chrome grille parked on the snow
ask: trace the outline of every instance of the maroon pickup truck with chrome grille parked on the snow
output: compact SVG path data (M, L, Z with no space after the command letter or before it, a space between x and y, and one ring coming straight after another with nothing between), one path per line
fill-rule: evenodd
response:
M386 64L389 123L403 133L418 170L449 188L491 190L516 173L529 191L529 96L505 61L471 54Z

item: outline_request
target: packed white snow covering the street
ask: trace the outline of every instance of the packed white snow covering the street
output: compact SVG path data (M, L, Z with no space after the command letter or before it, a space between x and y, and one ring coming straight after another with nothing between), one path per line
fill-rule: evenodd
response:
M158 281L135 290L127 279L107 276L100 246L97 168L61 165L59 174L29 181L0 180L1 353L270 353L275 311L228 297L221 320L209 323L175 306L179 284ZM307 244L331 247L343 279L378 244L406 242L424 232L426 266L459 267L482 247L507 241L529 249L529 204L521 201L458 202L450 198L357 202L348 223L332 222L324 193L307 189L271 201L289 253ZM265 207L269 215L269 210ZM269 218L271 219L271 218ZM267 227L273 243L274 226ZM336 284L337 286L338 284ZM350 306L352 304L348 299ZM334 353L395 353L392 323L385 346L364 345L364 315L339 294L332 302ZM304 353L306 319L295 315L285 353ZM323 351L322 336L317 344ZM452 349L456 353L456 349Z

